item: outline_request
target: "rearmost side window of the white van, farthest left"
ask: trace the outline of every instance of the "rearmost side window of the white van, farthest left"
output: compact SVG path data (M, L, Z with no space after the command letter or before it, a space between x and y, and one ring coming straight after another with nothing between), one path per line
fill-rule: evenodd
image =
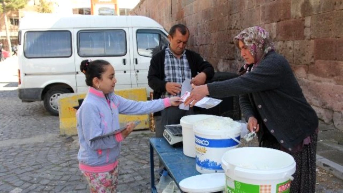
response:
M26 58L68 58L71 55L70 31L28 31L24 35Z

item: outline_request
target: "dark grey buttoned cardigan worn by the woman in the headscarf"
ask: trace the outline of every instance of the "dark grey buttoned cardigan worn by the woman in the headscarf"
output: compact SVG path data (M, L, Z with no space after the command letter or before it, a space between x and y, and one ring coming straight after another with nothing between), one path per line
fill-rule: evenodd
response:
M268 53L251 72L209 83L208 88L214 97L240 95L239 103L246 119L255 116L259 125L263 122L288 150L318 128L317 114L306 101L288 61L275 52Z

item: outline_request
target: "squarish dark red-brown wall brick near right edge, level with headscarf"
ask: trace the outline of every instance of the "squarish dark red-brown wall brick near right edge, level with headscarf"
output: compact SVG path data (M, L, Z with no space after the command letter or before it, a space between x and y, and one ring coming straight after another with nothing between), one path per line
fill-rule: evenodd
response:
M336 59L336 39L322 38L315 39L316 60L335 60Z

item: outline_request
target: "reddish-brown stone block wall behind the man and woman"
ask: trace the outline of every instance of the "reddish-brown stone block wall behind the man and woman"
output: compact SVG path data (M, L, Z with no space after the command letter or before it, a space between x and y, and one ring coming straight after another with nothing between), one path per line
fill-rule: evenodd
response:
M218 71L242 65L232 38L260 25L291 64L320 120L343 130L343 0L141 0L131 15L189 27L188 48Z

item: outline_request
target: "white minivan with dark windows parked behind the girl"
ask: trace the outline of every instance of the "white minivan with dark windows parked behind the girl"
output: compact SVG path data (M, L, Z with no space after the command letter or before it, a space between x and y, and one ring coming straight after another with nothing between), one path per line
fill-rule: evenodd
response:
M32 14L19 25L19 98L44 101L58 115L62 93L86 92L84 59L109 61L116 89L146 87L152 54L167 45L168 33L144 16Z

